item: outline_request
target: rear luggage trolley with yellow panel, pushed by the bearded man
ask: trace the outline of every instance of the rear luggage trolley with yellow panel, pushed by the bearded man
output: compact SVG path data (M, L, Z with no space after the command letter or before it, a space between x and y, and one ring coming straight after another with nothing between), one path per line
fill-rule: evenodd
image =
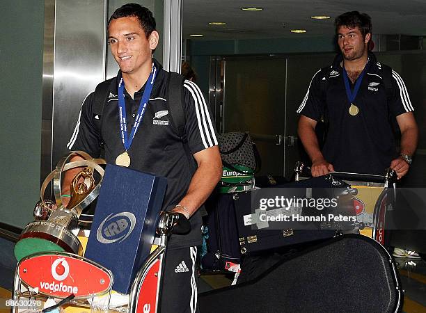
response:
M294 166L295 179L310 177L310 168L303 162ZM331 179L340 179L349 184L356 213L356 230L385 246L386 211L395 208L395 170L388 168L384 175L354 172L329 172Z

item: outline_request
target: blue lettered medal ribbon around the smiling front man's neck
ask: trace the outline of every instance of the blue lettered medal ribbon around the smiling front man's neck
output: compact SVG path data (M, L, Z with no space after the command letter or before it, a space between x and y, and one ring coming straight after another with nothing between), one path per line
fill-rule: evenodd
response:
M126 151L130 149L134 135L136 134L136 131L138 130L139 125L141 124L143 115L145 114L146 105L148 104L148 100L150 99L152 86L154 85L156 74L157 67L152 64L152 70L150 76L148 77L148 80L146 81L145 90L143 90L141 103L139 104L138 115L136 115L136 118L134 120L134 125L132 127L132 131L130 132L130 137L127 136L127 113L124 95L125 83L123 81L123 77L121 77L120 83L118 83L118 112L120 113L120 132L121 140L123 141L123 145Z

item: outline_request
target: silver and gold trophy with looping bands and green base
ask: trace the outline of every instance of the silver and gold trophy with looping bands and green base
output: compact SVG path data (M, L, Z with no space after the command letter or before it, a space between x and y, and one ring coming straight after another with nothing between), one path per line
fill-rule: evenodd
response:
M73 157L82 157L81 161L70 161ZM77 238L79 218L85 207L93 202L100 192L105 164L104 159L93 159L82 151L66 154L58 162L54 171L47 175L40 188L40 201L34 209L35 221L26 225L15 245L15 257L19 261L27 255L45 251L65 251L77 255L83 254L83 246ZM61 193L63 173L74 168L82 168L72 179L70 201L66 206ZM95 172L100 176L94 177ZM47 186L53 179L55 201L45 200Z

